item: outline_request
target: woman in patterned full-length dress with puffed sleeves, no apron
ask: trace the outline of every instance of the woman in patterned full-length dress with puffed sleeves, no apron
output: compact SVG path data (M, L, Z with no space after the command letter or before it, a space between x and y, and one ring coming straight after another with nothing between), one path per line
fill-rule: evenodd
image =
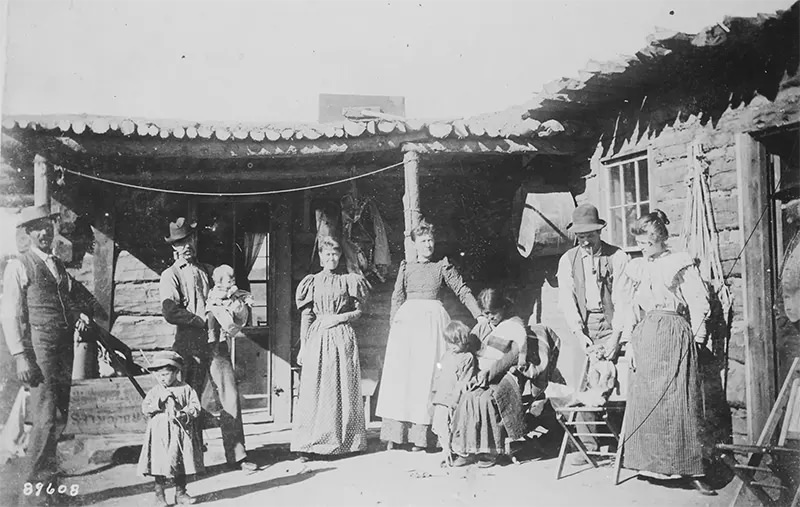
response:
M303 460L367 447L361 365L350 322L361 316L369 284L358 274L334 273L341 253L336 240L321 238L322 271L297 287L303 370L291 448Z

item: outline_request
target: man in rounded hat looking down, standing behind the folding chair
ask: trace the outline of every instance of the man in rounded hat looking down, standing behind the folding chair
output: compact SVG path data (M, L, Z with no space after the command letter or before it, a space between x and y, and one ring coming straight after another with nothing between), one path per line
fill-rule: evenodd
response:
M622 335L623 311L614 312L622 298L617 283L628 262L620 248L600 239L606 226L597 208L581 204L572 213L567 230L575 234L578 245L567 250L558 262L558 303L567 327L587 353L613 359ZM585 433L585 431L581 431ZM590 451L598 450L598 442L589 436L581 440ZM573 459L577 464L582 459Z

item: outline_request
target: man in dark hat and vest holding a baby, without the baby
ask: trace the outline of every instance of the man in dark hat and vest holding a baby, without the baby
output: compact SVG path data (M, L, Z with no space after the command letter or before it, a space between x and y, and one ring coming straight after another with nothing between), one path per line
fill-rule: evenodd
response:
M220 430L225 460L234 469L253 472L247 461L239 388L227 342L208 343L206 299L213 285L213 267L197 261L196 225L185 218L169 224L167 243L175 262L161 273L159 292L164 319L175 325L172 348L184 359L183 380L202 396L210 376L222 413Z

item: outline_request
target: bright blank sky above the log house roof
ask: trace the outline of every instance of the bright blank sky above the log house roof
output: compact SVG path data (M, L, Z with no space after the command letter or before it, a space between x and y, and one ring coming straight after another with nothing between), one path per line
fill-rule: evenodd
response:
M791 3L0 0L2 110L315 121L319 93L354 93L405 96L409 117L469 116L633 54L656 26L696 32Z

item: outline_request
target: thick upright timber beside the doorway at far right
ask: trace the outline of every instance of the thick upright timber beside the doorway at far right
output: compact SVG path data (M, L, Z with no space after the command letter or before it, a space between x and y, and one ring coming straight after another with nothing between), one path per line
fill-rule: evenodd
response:
M772 319L767 153L749 134L736 137L739 231L747 241L742 255L742 308L745 323L747 433L755 442L775 402L775 350ZM752 235L751 235L752 234ZM748 240L749 238L749 240Z

